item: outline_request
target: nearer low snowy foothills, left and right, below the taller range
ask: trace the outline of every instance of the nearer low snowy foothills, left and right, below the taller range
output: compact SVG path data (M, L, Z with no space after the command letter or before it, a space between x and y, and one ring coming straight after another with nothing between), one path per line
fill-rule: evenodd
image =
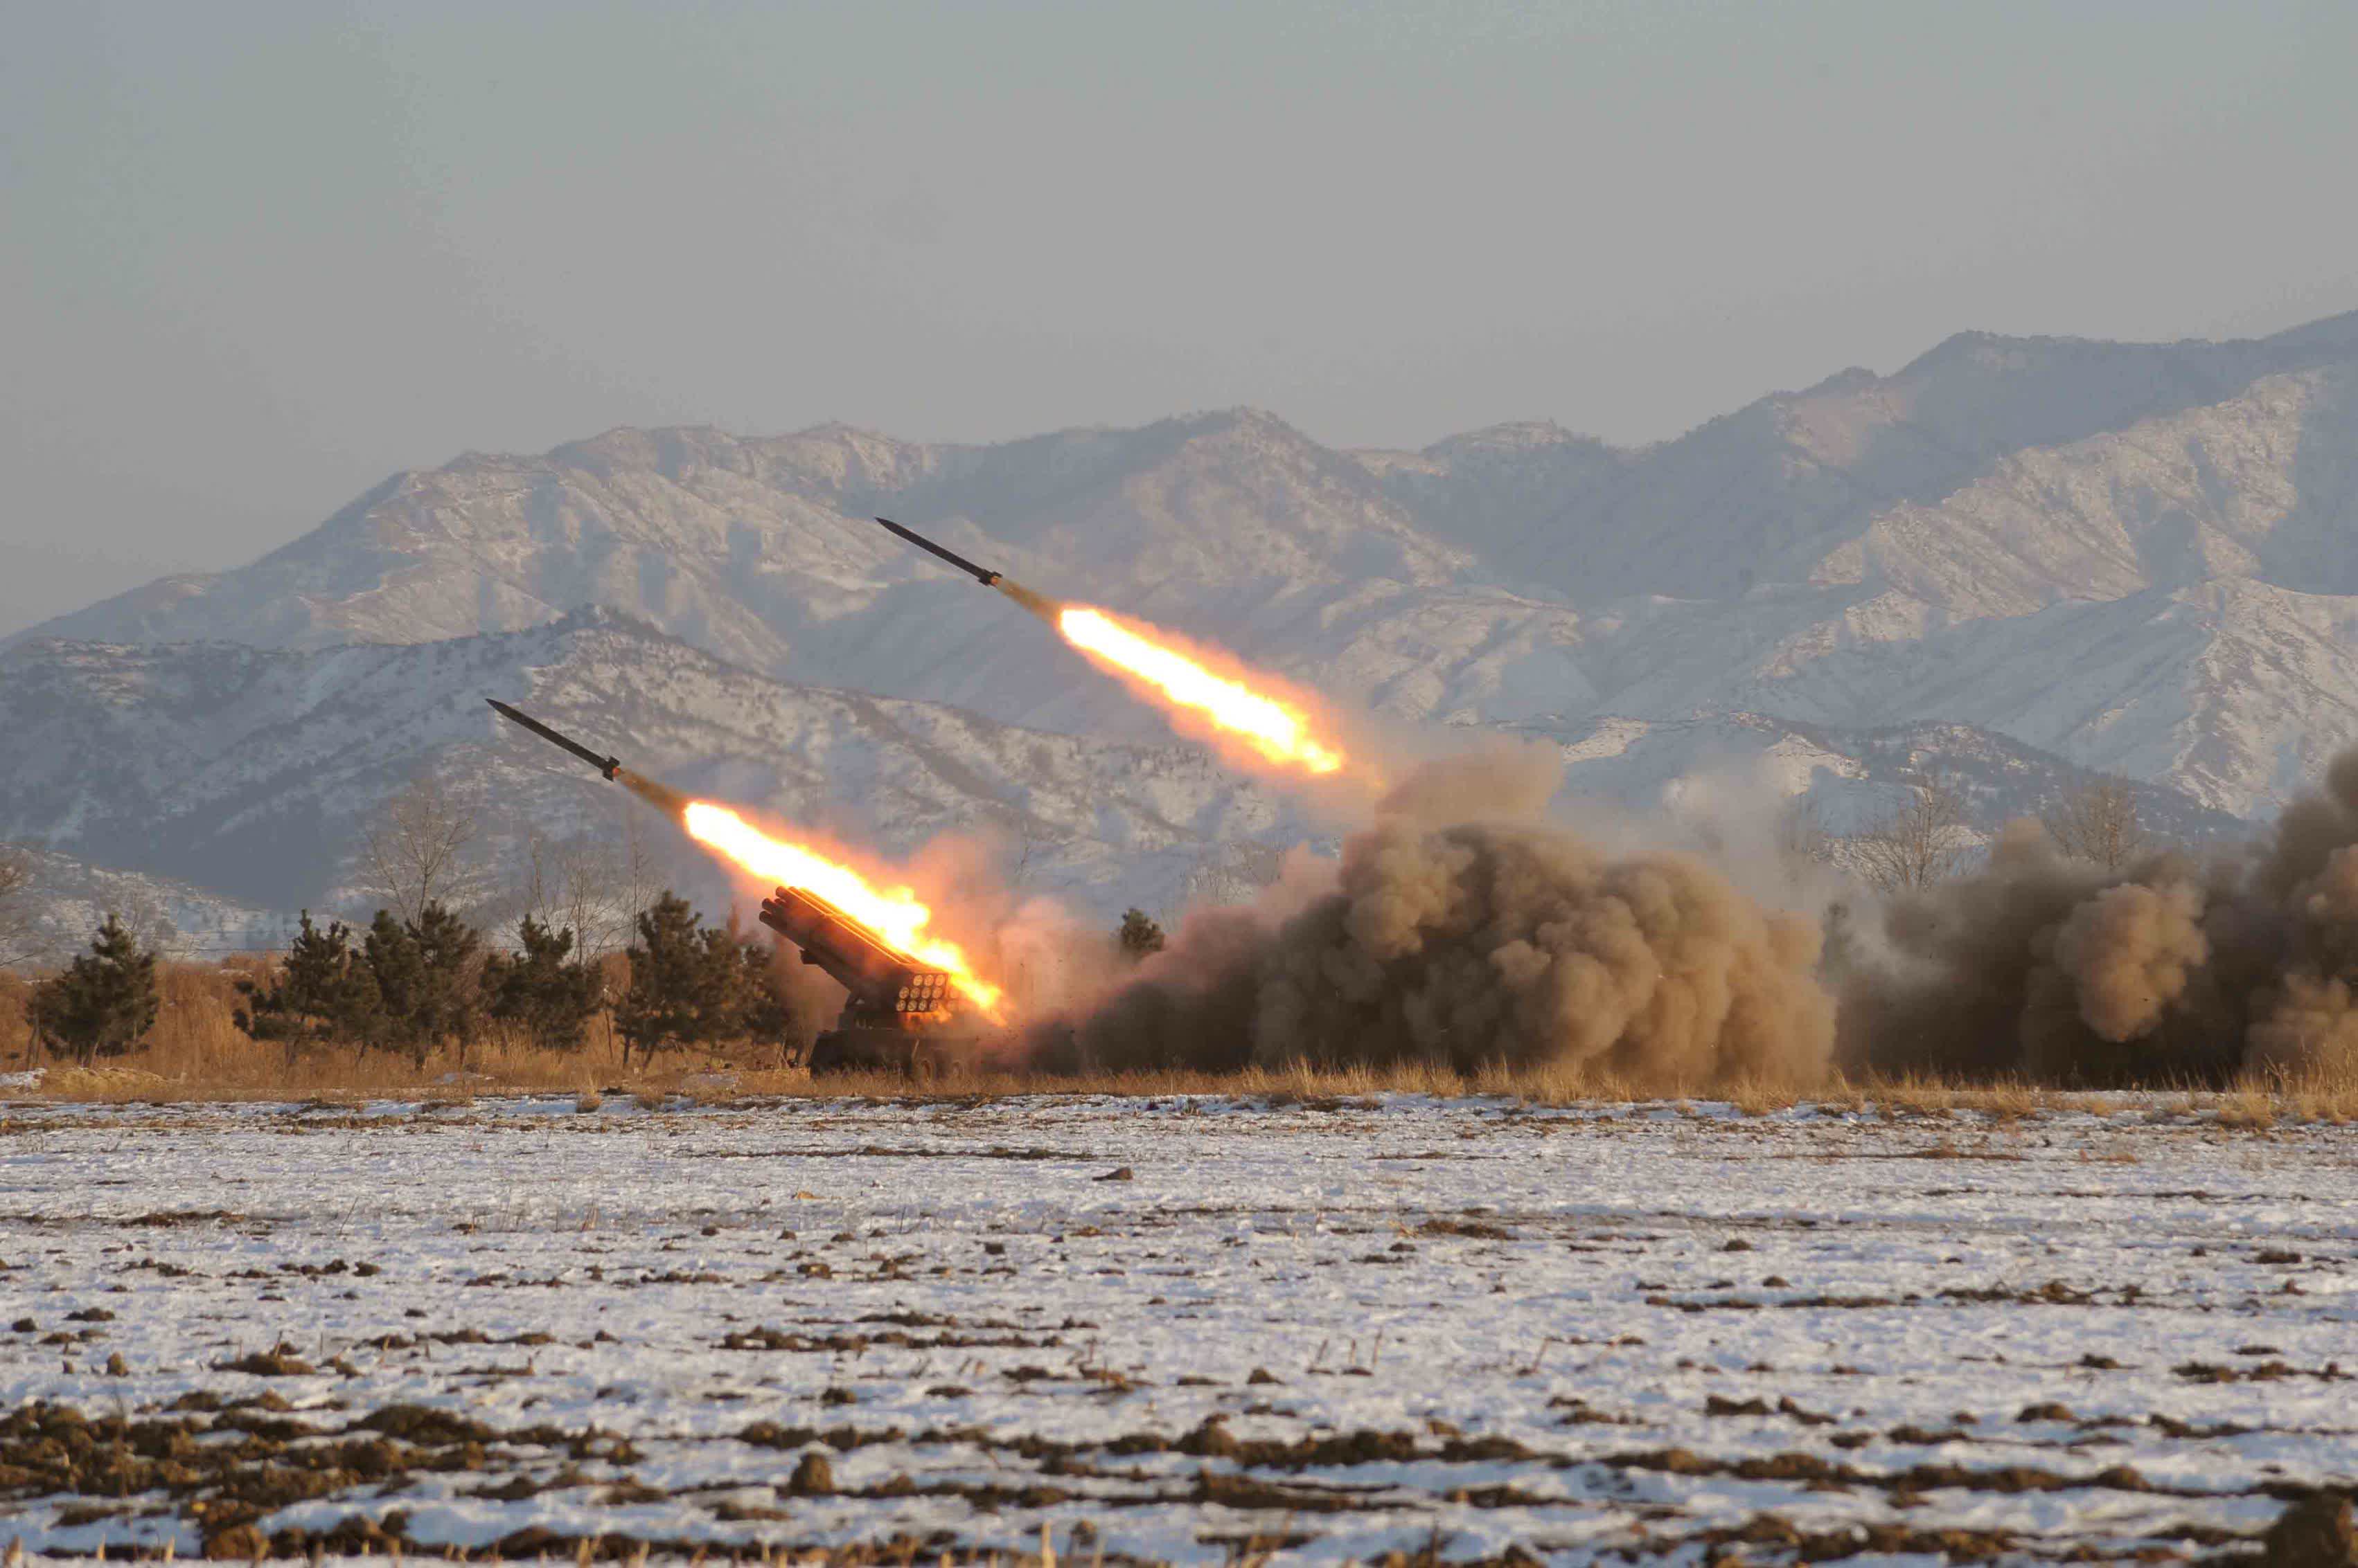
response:
M1245 896L1276 877L1285 849L1337 830L1198 745L1028 731L776 681L592 608L439 644L19 644L0 653L0 733L17 738L0 757L0 839L151 872L139 887L50 877L59 931L125 908L177 924L184 941L212 931L217 946L255 946L250 931L266 938L285 910L365 913L361 825L429 773L479 825L469 861L486 910L521 882L533 835L620 844L634 828L653 879L707 908L729 901L729 879L681 835L498 719L490 693L696 795L877 856L931 856L936 887L1054 894L1094 917ZM1934 773L1967 785L1985 828L2087 783L2061 757L1962 724L1839 731L1721 714L1478 729L1559 745L1561 811L1613 832L1632 813L1688 813L1698 780L1809 795L1835 830L1872 823ZM2186 839L2242 825L2167 785L2146 785L2141 806Z

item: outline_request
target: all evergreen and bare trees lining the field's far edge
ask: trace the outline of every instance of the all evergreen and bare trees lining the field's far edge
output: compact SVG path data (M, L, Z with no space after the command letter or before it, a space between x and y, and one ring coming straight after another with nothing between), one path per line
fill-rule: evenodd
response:
M1783 818L1780 846L1797 861L1839 865L1879 891L1931 887L1967 872L1978 856L1969 799L1945 778L1922 778L1884 821L1837 837L1809 802ZM2120 870L2160 846L2139 821L2122 780L2089 783L2042 816L2056 846ZM587 1042L601 1014L623 1042L623 1061L663 1049L755 1042L785 1054L814 1033L773 981L769 941L747 941L731 920L703 917L663 889L646 896L646 863L634 835L623 856L597 842L526 844L523 915L509 948L455 913L472 884L476 823L432 778L399 792L361 842L363 884L387 908L363 929L318 927L302 915L285 960L266 979L241 979L236 1026L290 1054L318 1047L401 1052L424 1063L436 1049L488 1035L552 1052ZM31 863L0 849L0 964L35 950L24 894ZM481 908L481 903L474 903ZM516 903L507 905L509 910ZM637 908L632 915L630 910ZM1849 908L1835 905L1837 924ZM627 934L618 957L601 950ZM1125 910L1113 936L1129 960L1162 948L1144 910ZM26 1021L57 1056L92 1061L130 1052L156 1023L156 953L116 915L90 950L33 986Z

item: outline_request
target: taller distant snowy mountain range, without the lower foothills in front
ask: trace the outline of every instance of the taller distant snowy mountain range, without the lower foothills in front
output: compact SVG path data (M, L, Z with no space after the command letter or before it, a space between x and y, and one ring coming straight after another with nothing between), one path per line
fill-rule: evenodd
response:
M2358 738L2358 314L1969 332L1644 450L1507 424L1342 453L1252 410L1002 446L608 431L396 474L40 632L325 651L601 604L776 679L1167 738L875 512L1403 722L1962 719L2240 813Z

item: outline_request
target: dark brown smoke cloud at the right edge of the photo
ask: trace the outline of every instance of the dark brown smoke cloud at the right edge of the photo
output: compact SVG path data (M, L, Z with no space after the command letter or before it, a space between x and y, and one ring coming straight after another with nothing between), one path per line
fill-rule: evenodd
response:
M2358 1063L2358 752L2245 854L2122 872L2009 825L1985 870L1898 898L1851 979L1842 1054L1875 1070L2217 1082Z

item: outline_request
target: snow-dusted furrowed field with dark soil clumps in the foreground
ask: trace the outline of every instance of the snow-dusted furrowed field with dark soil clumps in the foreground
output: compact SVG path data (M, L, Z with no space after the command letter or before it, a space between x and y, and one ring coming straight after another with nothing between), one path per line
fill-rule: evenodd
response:
M0 1535L2202 1556L2353 1257L2358 1129L2136 1099L17 1106Z

